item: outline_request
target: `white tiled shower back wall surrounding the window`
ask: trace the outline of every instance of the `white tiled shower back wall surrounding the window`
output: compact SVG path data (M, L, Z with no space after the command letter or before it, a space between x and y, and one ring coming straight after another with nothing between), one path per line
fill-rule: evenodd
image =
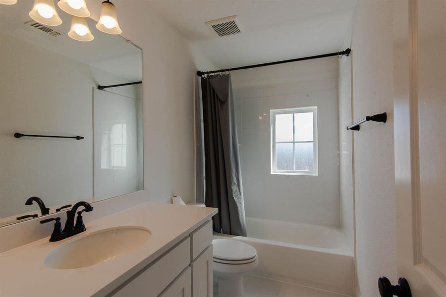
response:
M339 226L336 57L231 73L246 216ZM271 174L270 110L318 107L319 175Z

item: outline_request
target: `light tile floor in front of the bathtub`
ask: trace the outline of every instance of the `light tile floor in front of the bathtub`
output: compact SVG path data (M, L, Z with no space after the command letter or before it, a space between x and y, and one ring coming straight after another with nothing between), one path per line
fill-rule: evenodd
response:
M348 297L253 275L245 276L243 280L245 297ZM214 293L214 297L224 296Z

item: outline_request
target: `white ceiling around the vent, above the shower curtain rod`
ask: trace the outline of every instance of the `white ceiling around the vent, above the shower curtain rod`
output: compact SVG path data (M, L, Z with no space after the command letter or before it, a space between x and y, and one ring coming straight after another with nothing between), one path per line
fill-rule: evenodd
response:
M338 51L356 0L151 0L148 4L217 67L230 68ZM231 15L237 15L244 33L217 38L205 25Z

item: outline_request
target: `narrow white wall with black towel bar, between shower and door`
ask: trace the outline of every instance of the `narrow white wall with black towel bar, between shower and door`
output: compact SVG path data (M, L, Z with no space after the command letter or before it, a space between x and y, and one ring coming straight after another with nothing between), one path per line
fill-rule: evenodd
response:
M358 1L352 19L353 119L386 111L387 123L353 133L356 291L379 296L380 276L396 282L393 156L392 2Z

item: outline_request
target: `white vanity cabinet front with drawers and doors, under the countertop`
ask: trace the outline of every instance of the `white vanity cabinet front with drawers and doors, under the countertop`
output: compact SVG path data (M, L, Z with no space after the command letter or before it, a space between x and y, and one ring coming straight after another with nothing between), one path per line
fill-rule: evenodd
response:
M212 221L130 277L113 297L212 297Z

